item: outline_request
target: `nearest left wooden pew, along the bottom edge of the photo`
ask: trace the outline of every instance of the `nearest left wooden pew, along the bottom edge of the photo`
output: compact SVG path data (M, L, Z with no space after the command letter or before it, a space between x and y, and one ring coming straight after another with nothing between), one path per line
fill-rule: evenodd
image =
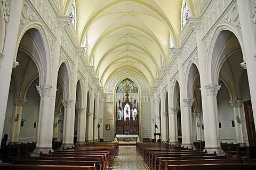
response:
M95 170L95 166L0 164L5 170Z

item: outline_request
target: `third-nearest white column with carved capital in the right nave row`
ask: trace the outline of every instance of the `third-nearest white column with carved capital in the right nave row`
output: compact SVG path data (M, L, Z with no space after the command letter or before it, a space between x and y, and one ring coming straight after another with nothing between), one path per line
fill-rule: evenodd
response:
M179 108L171 107L169 114L169 144L178 145L177 113Z

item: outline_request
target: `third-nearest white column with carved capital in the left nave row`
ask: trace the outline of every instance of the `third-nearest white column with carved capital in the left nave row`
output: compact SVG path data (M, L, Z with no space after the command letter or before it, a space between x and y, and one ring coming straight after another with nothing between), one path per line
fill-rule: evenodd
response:
M76 145L85 145L85 114L84 107L76 108L76 113L78 114L78 124L77 124L77 142Z

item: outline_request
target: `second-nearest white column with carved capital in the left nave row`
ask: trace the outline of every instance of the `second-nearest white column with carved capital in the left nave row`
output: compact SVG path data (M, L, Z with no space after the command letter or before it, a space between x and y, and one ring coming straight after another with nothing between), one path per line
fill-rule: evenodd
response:
M72 112L73 100L61 100L64 106L64 120L63 120L63 141L62 148L74 147L74 123L75 113Z

